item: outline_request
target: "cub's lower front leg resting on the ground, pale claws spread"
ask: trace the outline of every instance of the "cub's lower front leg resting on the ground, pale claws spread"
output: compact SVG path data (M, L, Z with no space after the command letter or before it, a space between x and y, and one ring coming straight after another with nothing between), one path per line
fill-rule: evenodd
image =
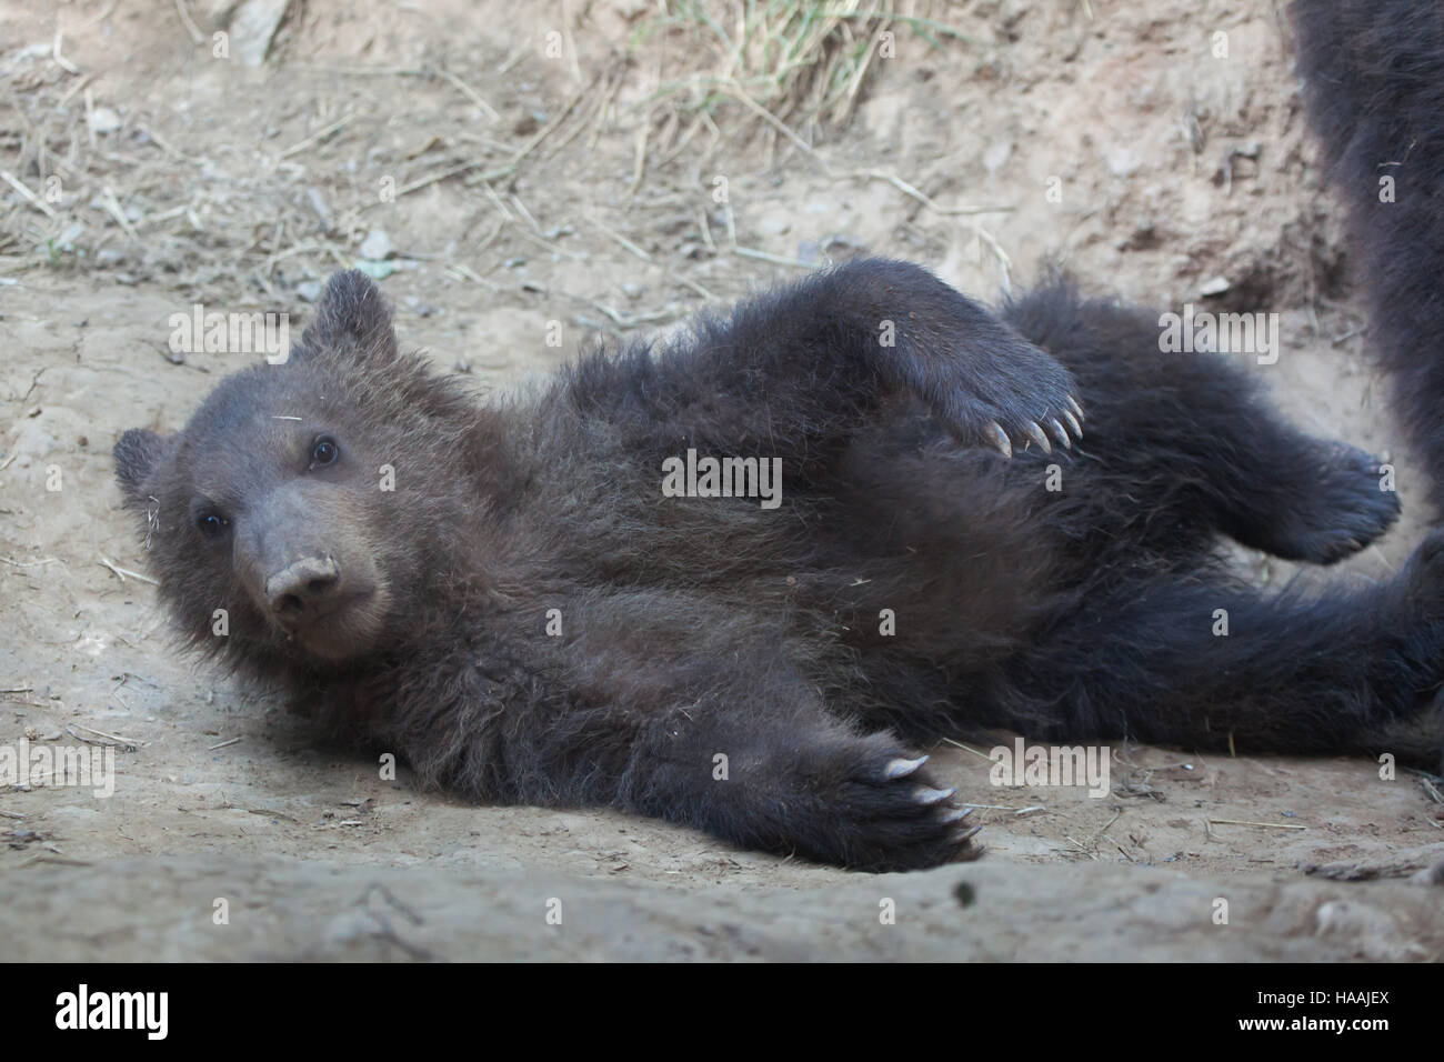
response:
M923 757L832 711L819 686L843 673L845 655L823 659L827 647L816 640L709 594L624 590L579 595L563 610L563 636L514 647L518 660L547 656L524 669L530 695L495 714L492 747L479 747L488 728L461 715L426 727L503 773L475 795L609 805L736 845L866 870L972 854L963 809ZM565 675L565 683L539 695L539 672ZM461 685L449 678L442 688ZM492 689L494 678L481 686ZM426 728L406 730L432 740Z

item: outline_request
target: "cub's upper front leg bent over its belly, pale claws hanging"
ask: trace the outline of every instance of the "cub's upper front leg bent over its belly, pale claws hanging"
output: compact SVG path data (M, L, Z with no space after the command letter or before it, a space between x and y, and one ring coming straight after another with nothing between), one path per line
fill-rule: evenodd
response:
M1070 448L1073 377L921 266L849 262L703 314L656 355L583 358L566 405L625 431L637 452L762 454L794 483L900 396L966 445Z

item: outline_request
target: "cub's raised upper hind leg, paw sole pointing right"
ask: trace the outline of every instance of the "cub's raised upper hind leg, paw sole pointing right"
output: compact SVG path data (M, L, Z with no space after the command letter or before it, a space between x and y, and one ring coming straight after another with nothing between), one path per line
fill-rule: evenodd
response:
M1040 289L1006 318L1074 374L1089 410L1077 459L1100 504L1126 497L1167 517L1151 514L1149 529L1206 526L1314 564L1357 552L1398 517L1375 458L1305 435L1272 409L1259 384L1266 366L1162 353L1157 314L1067 288Z

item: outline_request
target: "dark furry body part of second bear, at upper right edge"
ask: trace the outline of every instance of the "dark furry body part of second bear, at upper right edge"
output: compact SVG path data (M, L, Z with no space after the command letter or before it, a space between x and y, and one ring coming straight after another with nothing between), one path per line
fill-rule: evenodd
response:
M1347 208L1367 347L1444 514L1444 4L1295 0L1308 121Z

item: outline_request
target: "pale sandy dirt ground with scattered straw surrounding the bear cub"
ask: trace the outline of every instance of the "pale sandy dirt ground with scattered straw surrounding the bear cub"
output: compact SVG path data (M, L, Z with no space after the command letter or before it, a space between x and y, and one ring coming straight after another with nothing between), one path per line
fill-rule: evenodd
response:
M1282 355L1255 370L1278 402L1401 462L1405 522L1327 579L1404 561L1421 491L1281 4L933 4L956 35L894 22L845 121L757 95L699 117L686 79L725 55L684 7L0 0L0 744L117 748L108 799L0 789L0 959L1438 959L1421 871L1444 803L1369 760L1118 746L1092 799L995 787L944 746L986 857L871 877L417 793L173 652L110 448L248 355L175 358L168 321L303 322L361 259L403 342L482 389L861 249L986 299L1063 266L1160 308L1276 312Z

